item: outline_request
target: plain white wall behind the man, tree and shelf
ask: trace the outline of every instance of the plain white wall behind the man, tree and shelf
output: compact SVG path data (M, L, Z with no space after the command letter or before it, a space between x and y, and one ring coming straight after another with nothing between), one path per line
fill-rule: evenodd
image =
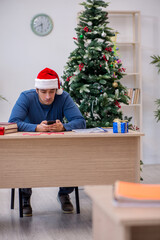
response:
M44 67L63 74L75 45L80 0L0 0L0 121L7 121L21 91L34 88L34 79ZM150 56L160 54L160 1L111 0L108 10L140 10L142 15L143 161L160 163L160 123L154 118L154 100L160 97L160 75ZM50 15L54 29L47 37L31 31L38 13ZM126 146L127 147L127 146Z

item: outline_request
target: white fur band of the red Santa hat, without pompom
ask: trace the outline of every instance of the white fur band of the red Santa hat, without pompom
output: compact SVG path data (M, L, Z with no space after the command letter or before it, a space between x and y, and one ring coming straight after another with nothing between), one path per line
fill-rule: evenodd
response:
M35 88L58 89L58 79L35 79Z

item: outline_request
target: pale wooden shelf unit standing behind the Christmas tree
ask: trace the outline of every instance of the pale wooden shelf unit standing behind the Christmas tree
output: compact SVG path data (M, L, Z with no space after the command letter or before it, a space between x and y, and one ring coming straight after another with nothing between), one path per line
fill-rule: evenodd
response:
M108 11L110 27L118 32L116 45L126 75L121 83L127 88L139 88L136 104L122 104L124 116L132 116L132 124L142 130L142 76L141 76L141 14L140 11Z

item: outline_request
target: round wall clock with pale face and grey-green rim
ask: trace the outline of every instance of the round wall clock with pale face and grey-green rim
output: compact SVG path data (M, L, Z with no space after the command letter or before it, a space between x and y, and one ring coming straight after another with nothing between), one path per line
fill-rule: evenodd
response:
M31 28L38 36L46 36L53 29L52 19L46 14L38 14L32 19Z

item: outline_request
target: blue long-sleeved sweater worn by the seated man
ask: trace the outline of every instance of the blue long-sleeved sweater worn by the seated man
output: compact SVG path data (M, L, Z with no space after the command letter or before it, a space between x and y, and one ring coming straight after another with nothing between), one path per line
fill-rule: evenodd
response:
M63 122L64 116L68 120L68 123L63 124L66 131L86 127L85 119L67 92L55 95L51 105L44 105L40 103L36 90L31 89L21 93L9 122L16 122L19 131L35 132L37 124L42 121L59 119Z

